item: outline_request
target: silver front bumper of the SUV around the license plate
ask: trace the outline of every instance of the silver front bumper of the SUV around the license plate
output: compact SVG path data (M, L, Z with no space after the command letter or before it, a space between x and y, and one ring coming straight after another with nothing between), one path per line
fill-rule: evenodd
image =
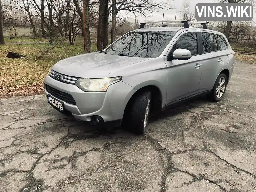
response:
M44 83L65 93L70 94L76 105L69 104L58 97L54 97L45 89L45 94L64 102L64 110L82 121L91 121L93 116L100 116L104 122L123 118L126 104L136 90L120 81L109 86L107 92L84 92L76 85L66 84L46 76Z

